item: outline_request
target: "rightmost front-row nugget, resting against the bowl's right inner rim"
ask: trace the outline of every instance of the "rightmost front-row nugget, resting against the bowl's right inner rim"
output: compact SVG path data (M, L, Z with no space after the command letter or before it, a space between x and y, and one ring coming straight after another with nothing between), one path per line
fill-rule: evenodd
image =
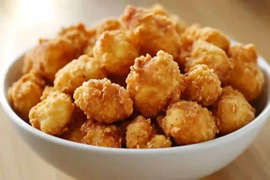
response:
M223 88L221 96L213 106L213 113L220 121L222 134L232 133L254 120L254 109L237 90L231 86Z

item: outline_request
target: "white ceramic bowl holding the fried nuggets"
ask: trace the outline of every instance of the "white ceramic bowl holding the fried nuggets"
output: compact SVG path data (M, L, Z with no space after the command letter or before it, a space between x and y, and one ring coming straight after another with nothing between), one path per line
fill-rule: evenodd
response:
M79 144L45 134L18 117L8 103L7 90L19 79L22 58L1 79L1 103L19 136L46 162L76 179L197 179L233 161L254 140L270 114L270 67L258 64L265 76L261 96L254 102L259 115L234 133L199 144L163 149L117 149ZM257 103L256 103L257 102Z

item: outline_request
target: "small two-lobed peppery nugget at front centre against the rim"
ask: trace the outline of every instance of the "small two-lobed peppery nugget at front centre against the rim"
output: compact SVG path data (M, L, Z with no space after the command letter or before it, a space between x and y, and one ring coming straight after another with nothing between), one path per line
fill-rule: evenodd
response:
M171 141L164 135L157 135L150 119L143 116L135 118L127 127L127 148L166 148L171 147Z

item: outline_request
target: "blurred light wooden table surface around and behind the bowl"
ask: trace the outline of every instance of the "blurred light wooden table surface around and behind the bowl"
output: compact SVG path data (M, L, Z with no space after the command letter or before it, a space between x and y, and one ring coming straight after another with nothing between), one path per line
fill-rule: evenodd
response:
M270 62L270 3L265 1L0 1L0 70L6 62L37 43L52 37L61 26L79 21L87 25L118 16L127 4L150 6L159 2L188 24L201 23L222 30L243 43L254 43ZM0 179L71 180L42 161L21 141L0 108ZM252 145L235 161L204 180L270 179L270 121Z

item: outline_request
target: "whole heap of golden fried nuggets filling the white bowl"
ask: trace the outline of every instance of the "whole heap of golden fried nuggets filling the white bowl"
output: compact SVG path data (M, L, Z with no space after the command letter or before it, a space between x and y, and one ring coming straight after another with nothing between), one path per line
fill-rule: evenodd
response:
M232 133L255 118L264 76L253 44L187 26L161 5L63 28L27 52L8 90L44 133L114 148L165 148ZM180 73L181 70L181 73Z

